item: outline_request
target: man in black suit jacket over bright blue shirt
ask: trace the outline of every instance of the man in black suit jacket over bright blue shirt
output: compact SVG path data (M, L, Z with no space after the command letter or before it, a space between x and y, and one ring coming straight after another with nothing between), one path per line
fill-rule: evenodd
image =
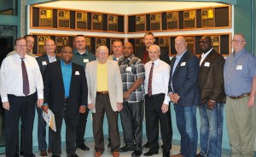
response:
M44 112L48 108L55 115L56 132L50 129L52 153L61 156L61 125L66 123L67 156L77 157L76 127L79 113L84 113L87 105L87 83L83 66L73 64L73 49L61 48L61 60L48 64L44 72Z

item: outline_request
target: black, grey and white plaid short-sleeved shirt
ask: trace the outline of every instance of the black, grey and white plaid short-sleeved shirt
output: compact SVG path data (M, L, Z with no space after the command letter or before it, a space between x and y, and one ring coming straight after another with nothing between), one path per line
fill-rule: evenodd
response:
M119 59L119 67L123 81L124 93L130 89L137 79L145 79L145 68L141 59L131 54L129 58ZM136 103L144 99L144 82L130 94L128 103Z

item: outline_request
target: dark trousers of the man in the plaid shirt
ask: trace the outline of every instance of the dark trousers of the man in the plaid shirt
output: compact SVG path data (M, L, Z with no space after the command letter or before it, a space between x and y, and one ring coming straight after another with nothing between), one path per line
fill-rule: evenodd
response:
M133 139L136 142L136 150L143 151L143 102L123 103L120 111L124 132L125 145L133 147Z

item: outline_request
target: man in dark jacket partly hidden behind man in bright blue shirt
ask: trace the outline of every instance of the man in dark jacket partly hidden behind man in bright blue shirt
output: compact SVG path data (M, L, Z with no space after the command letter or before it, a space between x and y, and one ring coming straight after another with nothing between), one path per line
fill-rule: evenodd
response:
M44 70L46 69L47 64L60 60L60 57L55 55L55 41L53 41L52 39L47 39L44 42L44 50L46 54L36 58L38 61L38 65L39 65L42 76L44 76ZM37 108L37 111L38 111L38 149L40 150L41 156L47 156L47 153L46 153L47 143L45 141L46 122L44 121L44 118L42 116L43 109ZM49 134L49 145L48 145L49 153L51 153L50 139L51 139L51 136Z

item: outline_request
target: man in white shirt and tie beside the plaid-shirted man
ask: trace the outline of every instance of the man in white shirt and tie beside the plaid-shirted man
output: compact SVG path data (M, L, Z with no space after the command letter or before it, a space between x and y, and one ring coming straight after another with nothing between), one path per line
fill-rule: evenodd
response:
M170 65L160 60L160 47L152 45L148 48L150 61L145 64L145 114L148 123L149 151L144 156L158 154L159 121L163 141L163 157L170 156L172 148L172 121L169 107L168 81Z

